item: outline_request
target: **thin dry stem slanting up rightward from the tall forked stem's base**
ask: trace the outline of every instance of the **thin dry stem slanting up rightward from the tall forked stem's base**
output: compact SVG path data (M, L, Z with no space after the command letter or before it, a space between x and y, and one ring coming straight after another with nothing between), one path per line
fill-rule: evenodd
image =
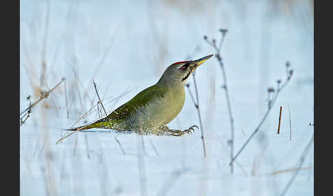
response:
M264 121L268 117L269 112L271 112L271 108L273 108L273 105L274 105L274 103L275 103L278 95L280 94L281 90L286 86L286 84L288 84L289 81L290 81L290 77L288 77L288 79L286 79L286 81L284 82L284 84L282 84L282 86L280 86L280 88L277 89L277 91L275 93L275 97L273 97L273 99L271 100L271 105L268 108L268 110L266 111L266 113L264 114L264 117L262 117L260 123L258 124L258 126L256 127L256 129L254 130L254 132L251 133L251 135L249 136L249 138L247 138L247 140L245 141L245 143L243 144L243 146L240 147L240 149L238 150L238 152L236 153L236 155L232 158L232 160L230 162L230 165L232 164L232 162L234 162L234 160L236 160L236 158L239 156L239 154L247 146L247 144L249 143L249 141L251 140L251 138L253 138L253 136L259 131L262 123L264 123Z

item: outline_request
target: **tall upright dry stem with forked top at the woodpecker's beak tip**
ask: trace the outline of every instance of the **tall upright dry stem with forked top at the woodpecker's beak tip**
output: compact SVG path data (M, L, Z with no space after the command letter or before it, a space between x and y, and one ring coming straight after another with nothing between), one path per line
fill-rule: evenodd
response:
M222 71L223 88L225 90L225 98L227 100L227 111L228 111L229 119L230 119L230 130L231 130L230 160L232 160L232 158L234 156L234 118L232 116L232 108L231 108L231 103L230 103L229 90L227 88L227 75L225 73L224 64L222 62L221 51L220 51L227 30L221 29L220 32L221 32L222 37L221 37L221 40L219 43L219 47L217 47L216 42L214 40L212 40L212 42L210 42L210 41L208 41L207 37L204 37L204 40L206 40L208 45L211 45L217 52L217 55L215 55L215 58L217 58L217 61L219 62L219 65L220 65L221 71ZM234 167L233 167L232 163L230 164L230 171L231 171L231 173L234 173Z

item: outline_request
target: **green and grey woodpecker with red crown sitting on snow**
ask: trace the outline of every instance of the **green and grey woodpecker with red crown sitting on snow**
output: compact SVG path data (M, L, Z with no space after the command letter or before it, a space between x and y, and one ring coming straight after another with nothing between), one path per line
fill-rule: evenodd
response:
M107 117L94 123L69 129L71 131L91 128L112 129L122 132L182 136L194 131L170 130L166 125L180 113L185 101L185 83L190 74L213 55L198 60L175 62L168 66L156 84L146 88ZM198 127L197 127L198 128Z

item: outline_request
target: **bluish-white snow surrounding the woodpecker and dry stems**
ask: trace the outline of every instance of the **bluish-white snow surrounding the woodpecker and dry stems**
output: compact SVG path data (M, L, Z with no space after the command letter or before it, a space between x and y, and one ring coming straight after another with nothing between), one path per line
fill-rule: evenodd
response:
M38 88L49 90L62 77L66 82L32 108L20 127L21 195L282 193L314 131L312 1L47 2L21 0L20 112L29 106L28 95L32 102L39 98ZM203 37L219 40L220 28L228 29L222 57L235 153L267 110L267 88L286 79L286 61L294 70L260 131L236 159L233 174L227 145L230 121L215 58L196 73L207 158L200 131L141 137L95 130L56 145L66 133L62 129L97 103L93 79L111 112L155 84L169 64L214 53ZM193 78L188 83L194 93ZM78 125L98 117L94 108ZM191 125L199 125L199 119L186 89L184 108L169 127L184 130ZM286 195L313 195L313 166L312 143Z

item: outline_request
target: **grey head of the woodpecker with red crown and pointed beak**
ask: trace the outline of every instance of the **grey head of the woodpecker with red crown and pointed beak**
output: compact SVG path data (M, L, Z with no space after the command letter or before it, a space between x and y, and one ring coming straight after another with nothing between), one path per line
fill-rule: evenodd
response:
M166 84L185 84L188 77L190 77L190 74L212 56L213 55L211 54L199 58L198 60L175 62L167 67L158 82Z

